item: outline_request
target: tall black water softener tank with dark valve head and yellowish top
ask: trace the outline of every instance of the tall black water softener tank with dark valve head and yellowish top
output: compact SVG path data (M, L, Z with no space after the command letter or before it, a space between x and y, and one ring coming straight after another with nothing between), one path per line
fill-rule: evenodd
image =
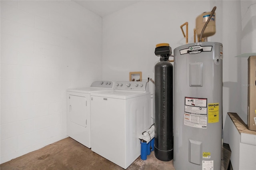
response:
M168 43L156 45L160 62L155 65L155 143L157 159L173 158L173 66L169 61L172 49Z

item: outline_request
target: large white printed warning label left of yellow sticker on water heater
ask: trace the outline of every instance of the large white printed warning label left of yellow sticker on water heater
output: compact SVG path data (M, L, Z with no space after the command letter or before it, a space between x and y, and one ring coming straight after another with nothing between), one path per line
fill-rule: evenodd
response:
M185 97L184 125L207 128L207 99Z

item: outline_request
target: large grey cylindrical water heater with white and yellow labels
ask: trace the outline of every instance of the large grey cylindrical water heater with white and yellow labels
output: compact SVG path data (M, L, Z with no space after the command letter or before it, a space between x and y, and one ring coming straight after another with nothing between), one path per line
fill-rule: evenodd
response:
M222 44L198 42L174 49L174 167L220 170Z

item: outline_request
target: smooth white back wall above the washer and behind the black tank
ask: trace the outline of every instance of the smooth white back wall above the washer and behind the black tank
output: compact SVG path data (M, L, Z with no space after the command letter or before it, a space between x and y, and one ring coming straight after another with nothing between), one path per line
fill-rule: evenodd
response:
M180 29L185 22L188 22L188 41L193 43L196 17L212 8L210 1L141 1L104 16L103 78L128 81L129 72L142 71L143 80L148 76L154 79L154 65L160 59L154 54L156 44L169 43L172 52L186 44Z

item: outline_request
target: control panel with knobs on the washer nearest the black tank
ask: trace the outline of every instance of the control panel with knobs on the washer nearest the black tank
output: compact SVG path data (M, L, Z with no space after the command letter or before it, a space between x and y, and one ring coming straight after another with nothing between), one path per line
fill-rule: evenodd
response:
M116 81L115 90L148 91L146 81Z

